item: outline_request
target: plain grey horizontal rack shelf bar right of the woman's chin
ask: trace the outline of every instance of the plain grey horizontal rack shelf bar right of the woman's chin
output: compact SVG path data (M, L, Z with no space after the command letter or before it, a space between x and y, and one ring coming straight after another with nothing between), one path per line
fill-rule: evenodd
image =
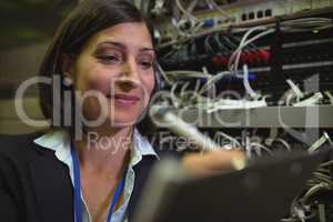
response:
M333 128L333 105L176 111L199 128Z

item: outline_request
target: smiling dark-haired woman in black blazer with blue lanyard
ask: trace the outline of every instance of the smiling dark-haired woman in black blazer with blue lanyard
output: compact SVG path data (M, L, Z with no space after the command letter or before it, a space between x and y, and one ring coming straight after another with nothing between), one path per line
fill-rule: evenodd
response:
M1 220L131 219L152 163L162 158L144 137L158 90L155 60L148 23L127 1L88 0L68 16L40 69L52 78L40 85L52 129L0 140ZM215 151L182 161L205 175L242 157Z

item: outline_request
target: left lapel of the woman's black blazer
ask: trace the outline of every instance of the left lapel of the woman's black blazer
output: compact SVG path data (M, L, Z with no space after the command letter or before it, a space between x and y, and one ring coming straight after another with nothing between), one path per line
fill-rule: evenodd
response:
M73 222L73 188L68 167L54 152L34 144L40 154L30 163L38 214L43 222Z

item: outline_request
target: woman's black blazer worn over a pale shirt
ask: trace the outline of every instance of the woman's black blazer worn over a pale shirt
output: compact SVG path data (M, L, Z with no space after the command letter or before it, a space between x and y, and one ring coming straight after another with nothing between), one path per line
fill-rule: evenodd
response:
M33 140L40 133L0 137L0 221L73 222L73 188L68 167L54 151ZM134 167L134 190L128 208L129 219L155 162L145 155Z

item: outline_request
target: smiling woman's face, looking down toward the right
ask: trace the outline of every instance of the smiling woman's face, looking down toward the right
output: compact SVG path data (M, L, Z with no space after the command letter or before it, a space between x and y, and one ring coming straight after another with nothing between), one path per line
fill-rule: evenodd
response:
M94 34L69 72L84 98L84 119L102 117L115 127L134 124L154 88L154 59L143 22L121 23ZM91 92L98 92L101 100Z

